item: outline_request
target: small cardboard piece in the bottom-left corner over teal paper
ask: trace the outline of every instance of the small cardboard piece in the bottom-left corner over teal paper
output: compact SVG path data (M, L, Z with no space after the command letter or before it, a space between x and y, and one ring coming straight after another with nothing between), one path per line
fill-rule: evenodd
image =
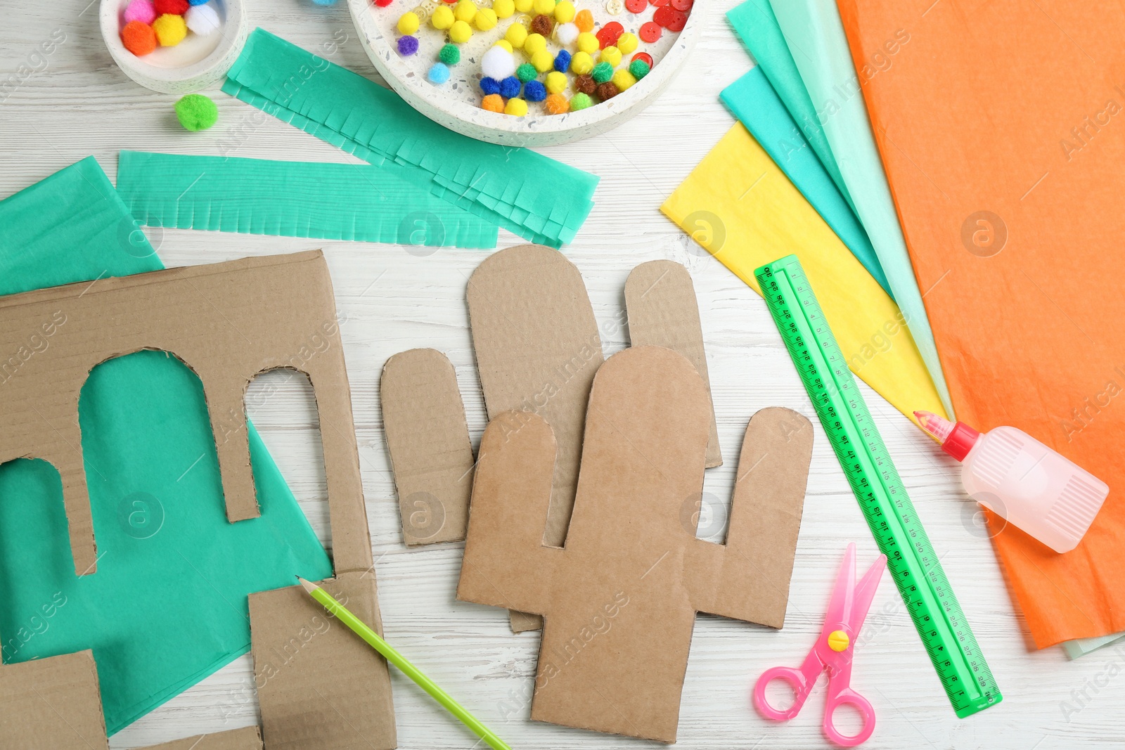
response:
M109 750L92 651L0 667L0 748Z

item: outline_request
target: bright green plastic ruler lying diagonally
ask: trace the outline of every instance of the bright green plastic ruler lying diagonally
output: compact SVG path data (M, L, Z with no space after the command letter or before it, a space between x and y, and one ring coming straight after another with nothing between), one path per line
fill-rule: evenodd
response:
M964 719L1000 703L992 671L801 263L786 255L754 275L954 711Z

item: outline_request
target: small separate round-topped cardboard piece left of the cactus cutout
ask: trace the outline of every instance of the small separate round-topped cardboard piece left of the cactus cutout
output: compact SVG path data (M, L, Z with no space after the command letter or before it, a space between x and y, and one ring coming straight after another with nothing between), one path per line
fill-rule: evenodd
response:
M382 365L379 401L406 544L465 539L472 443L453 365L433 349Z

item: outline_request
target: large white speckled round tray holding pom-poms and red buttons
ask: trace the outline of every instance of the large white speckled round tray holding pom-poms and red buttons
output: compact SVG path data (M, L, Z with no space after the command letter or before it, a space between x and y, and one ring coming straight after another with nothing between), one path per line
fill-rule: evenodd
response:
M626 31L636 33L641 22L651 19L654 12L649 7L636 16L628 10L611 15L606 6L612 4L613 0L573 1L578 10L588 9L593 12L598 28L615 20L624 26ZM411 107L435 123L479 141L511 146L570 143L624 123L651 103L672 82L702 34L706 15L706 0L695 0L687 16L687 24L678 34L664 29L664 35L657 43L641 43L637 52L652 55L651 72L609 101L565 115L529 114L525 117L513 117L482 109L478 83L480 56L496 39L503 37L504 29L520 13L501 20L490 31L475 30L472 39L460 45L461 62L452 66L452 78L439 87L426 80L425 70L429 63L436 60L444 38L440 31L429 26L429 21L423 21L415 35L420 42L418 52L410 57L398 54L398 17L420 4L433 7L436 3L434 0L393 0L386 8L379 8L371 0L348 0L360 42L376 70ZM490 3L488 0L478 0L478 4L488 7ZM550 48L557 49L558 45L552 43ZM633 54L636 52L624 58L629 60ZM523 62L519 53L516 57Z

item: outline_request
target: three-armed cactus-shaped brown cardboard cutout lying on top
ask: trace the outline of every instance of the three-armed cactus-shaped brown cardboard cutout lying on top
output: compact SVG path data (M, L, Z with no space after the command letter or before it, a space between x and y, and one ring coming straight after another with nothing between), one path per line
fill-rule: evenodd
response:
M695 613L784 623L812 427L789 409L750 421L728 541L714 544L695 537L694 515L709 400L670 350L605 362L564 549L542 537L550 425L530 414L511 431L505 415L485 431L457 596L543 615L532 719L674 742Z

